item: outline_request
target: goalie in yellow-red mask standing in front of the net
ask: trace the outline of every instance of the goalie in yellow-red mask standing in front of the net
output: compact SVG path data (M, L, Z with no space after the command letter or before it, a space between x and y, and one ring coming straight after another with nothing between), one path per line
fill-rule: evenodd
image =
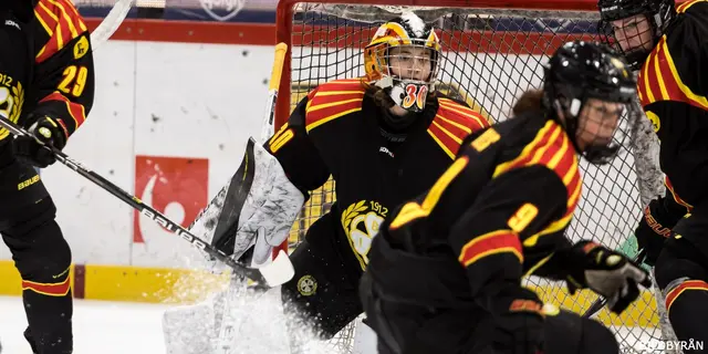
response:
M450 166L461 140L489 125L435 90L440 56L435 30L416 14L381 25L364 50L365 77L319 85L268 140L267 153L251 147L254 175L243 178L251 191L238 232L211 240L239 260L260 262L288 237L303 196L332 176L337 200L292 253L295 275L281 288L285 309L324 339L363 312L358 280L392 208L423 192ZM271 167L260 173L260 166ZM275 187L254 191L264 185ZM256 238L263 228L264 237Z

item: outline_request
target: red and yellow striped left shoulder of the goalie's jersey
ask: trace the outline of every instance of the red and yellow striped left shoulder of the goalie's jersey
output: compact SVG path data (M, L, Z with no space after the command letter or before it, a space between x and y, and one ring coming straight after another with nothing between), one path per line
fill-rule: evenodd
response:
M311 129L346 114L362 111L365 88L360 79L334 80L308 94L305 128Z

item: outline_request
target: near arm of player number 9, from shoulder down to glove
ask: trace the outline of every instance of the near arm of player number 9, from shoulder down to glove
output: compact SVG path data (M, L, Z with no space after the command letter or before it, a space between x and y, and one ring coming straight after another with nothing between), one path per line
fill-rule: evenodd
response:
M560 219L566 202L566 188L553 171L522 167L493 178L454 223L450 246L476 303L499 327L498 351L534 353L540 345L543 303L521 285L523 242Z

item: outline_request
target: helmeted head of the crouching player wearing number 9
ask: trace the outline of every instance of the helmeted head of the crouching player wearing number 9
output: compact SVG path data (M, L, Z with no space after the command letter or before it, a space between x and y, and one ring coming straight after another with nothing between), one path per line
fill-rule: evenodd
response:
M628 65L604 45L569 42L545 67L543 106L565 127L575 149L595 165L610 163L628 143L639 117L632 105L635 95Z

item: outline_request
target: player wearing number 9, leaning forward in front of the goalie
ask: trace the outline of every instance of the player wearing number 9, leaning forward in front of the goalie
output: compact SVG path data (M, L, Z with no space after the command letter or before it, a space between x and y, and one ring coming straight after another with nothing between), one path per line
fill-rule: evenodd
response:
M615 156L634 85L608 49L566 43L543 91L468 137L427 192L392 210L361 284L379 354L618 352L607 329L544 306L521 278L590 288L616 313L650 284L625 256L564 236L581 195L576 156L597 165Z

